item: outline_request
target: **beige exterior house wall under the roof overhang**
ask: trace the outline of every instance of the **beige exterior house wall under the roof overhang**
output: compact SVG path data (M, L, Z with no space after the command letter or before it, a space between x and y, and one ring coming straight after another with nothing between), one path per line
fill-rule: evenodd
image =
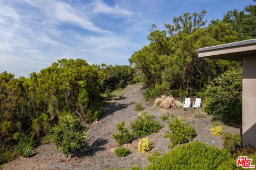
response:
M243 146L256 147L256 54L243 56Z

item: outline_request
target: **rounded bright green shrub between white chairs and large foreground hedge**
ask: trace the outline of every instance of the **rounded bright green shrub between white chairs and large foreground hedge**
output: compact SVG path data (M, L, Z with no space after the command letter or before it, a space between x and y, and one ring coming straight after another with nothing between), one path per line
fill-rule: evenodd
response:
M187 143L196 136L196 130L194 126L184 123L180 118L173 118L169 122L169 131L164 134L164 138L169 138L171 141L170 148L178 144Z

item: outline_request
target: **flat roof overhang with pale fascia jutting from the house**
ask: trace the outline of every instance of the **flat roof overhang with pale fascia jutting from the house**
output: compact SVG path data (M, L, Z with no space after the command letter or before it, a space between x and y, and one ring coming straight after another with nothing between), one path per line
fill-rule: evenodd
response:
M198 57L202 58L243 61L243 56L256 54L256 39L199 48L197 52Z

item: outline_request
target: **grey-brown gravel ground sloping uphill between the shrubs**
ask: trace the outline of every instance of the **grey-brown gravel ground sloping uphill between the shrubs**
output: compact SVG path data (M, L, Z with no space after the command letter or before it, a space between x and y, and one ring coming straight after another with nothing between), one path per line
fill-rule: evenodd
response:
M5 164L4 169L108 169L127 168L132 165L145 167L148 165L146 157L152 151L158 150L161 154L169 151L169 139L163 138L164 132L168 129L167 123L159 119L159 115L167 112L174 113L176 116L182 115L185 122L195 126L197 137L194 140L204 141L218 148L222 147L221 136L211 135L211 116L194 119L193 115L198 112L197 109L190 108L188 111L183 111L182 108L165 110L153 107L152 101L144 102L141 88L141 85L126 87L121 92L124 99L107 102L105 109L101 112L99 123L88 125L89 145L82 152L77 152L68 162L54 146L47 144L37 147L33 157L17 158ZM149 140L154 143L154 148L150 152L146 154L138 152L136 148L138 140L135 140L126 145L131 150L131 154L119 158L114 153L117 145L111 136L117 132L116 123L124 120L129 127L130 122L138 116L139 112L134 111L135 103L138 101L143 103L143 112L155 115L156 119L165 126L160 132L148 136ZM238 133L239 131L239 128L232 126L223 127L223 132Z

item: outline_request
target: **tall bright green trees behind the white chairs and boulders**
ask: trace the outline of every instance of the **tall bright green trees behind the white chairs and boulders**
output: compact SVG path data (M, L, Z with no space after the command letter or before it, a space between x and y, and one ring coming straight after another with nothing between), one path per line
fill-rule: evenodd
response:
M165 30L151 26L148 40L129 58L135 69L143 73L143 83L149 89L143 95L146 100L157 95L184 97L197 94L216 75L234 70L240 64L230 61L203 60L196 49L239 40L239 34L231 24L213 20L208 27L204 15L184 13L174 17L173 24L165 23Z

